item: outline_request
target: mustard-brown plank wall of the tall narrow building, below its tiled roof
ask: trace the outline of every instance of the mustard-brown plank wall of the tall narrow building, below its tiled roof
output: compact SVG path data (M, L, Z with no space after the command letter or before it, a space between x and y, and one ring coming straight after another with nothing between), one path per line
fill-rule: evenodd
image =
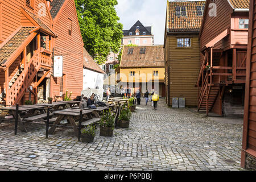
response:
M170 105L173 97L185 97L187 106L197 106L196 88L200 72L200 42L199 34L168 35L168 92ZM191 38L191 48L177 48L177 38Z

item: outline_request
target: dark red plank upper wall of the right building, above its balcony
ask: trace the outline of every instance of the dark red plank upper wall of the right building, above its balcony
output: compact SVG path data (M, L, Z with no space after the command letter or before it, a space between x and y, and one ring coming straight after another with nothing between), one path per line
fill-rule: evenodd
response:
M231 26L231 12L229 5L226 1L216 0L214 1L217 5L217 16L209 16L209 8L207 9L207 14L205 14L203 31L201 32L201 48L205 46L205 44L209 43L211 40L216 38L221 32L230 28ZM205 8L209 6L209 1L207 1ZM230 48L230 36L221 40L217 44L214 45L214 49L229 49Z

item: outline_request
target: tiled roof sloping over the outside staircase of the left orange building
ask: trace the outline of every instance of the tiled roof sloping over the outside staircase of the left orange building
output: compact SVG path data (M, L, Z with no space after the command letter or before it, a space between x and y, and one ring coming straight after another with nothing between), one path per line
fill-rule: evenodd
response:
M30 35L30 31L35 27L22 27L20 30L0 49L0 65L4 64L7 59L18 49L24 40Z

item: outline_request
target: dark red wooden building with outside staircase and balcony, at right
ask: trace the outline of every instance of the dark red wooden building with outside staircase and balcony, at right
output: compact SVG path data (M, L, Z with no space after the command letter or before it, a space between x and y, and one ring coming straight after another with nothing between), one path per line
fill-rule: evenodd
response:
M198 109L243 115L249 0L207 0L200 32Z

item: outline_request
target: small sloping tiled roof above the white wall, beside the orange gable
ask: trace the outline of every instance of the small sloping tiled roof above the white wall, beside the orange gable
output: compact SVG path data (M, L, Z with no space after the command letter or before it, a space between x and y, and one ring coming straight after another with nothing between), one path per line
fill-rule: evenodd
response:
M86 49L83 49L83 65L84 68L90 69L92 71L98 72L98 73L103 73L105 72L98 66L97 63L92 59L92 57L89 55L89 53L86 51Z

